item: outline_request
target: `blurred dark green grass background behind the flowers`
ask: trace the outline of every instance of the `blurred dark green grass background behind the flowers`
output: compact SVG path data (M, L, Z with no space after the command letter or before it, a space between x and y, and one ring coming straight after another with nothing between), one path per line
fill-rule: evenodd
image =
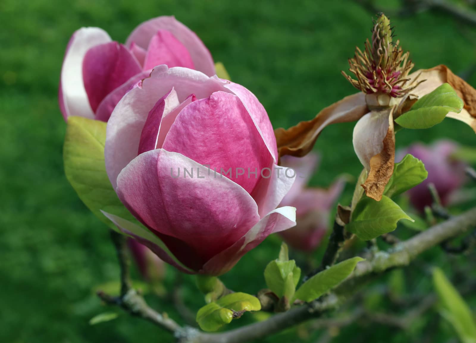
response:
M474 26L441 10L398 15L398 2L377 5L390 9L397 38L410 50L416 69L443 63L456 74L467 74L476 64ZM66 124L57 101L61 62L73 31L98 26L123 42L136 25L159 15L175 15L194 30L232 80L258 96L273 126L288 127L355 92L340 70L347 69L347 58L369 36L373 13L353 1L1 0L0 342L173 342L171 335L126 314L88 324L108 311L94 290L116 281L119 269L108 230L65 179ZM468 82L476 86L476 75ZM342 172L360 172L352 129L349 123L324 130L316 145L322 161L313 185L327 186ZM476 146L471 129L449 119L429 130L398 133L397 146L440 137ZM352 190L348 185L342 203L349 202ZM222 279L231 289L249 293L265 287L262 271L279 244L268 238ZM426 259L446 270L453 263L464 264L464 257L439 252ZM135 270L134 276L139 279ZM408 288L431 289L425 275L406 276ZM169 291L175 279L168 268ZM185 303L196 311L203 299L193 279L184 276L182 284ZM146 296L151 305L181 321L169 296ZM238 324L255 319L244 316ZM418 325L416 332L429 335L428 342L448 342L453 335L436 312ZM329 335L327 329L310 335L303 328L298 331L298 336L288 330L266 342L317 342L319 335ZM420 333L376 324L330 333L332 342L424 342L415 338Z

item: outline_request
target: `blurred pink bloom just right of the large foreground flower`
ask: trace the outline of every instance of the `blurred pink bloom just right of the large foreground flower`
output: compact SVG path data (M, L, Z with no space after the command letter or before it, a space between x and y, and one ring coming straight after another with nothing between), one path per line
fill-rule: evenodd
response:
M342 193L345 180L340 178L329 189L307 188L307 182L317 168L318 156L308 153L298 158L281 157L281 164L296 171L296 181L280 206L296 207L296 226L279 234L293 248L312 251L326 235L329 213Z

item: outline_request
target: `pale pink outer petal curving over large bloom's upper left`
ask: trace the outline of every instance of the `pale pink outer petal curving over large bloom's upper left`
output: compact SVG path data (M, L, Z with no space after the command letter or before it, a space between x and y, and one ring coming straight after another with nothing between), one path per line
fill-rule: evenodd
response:
M108 121L104 157L109 180L116 188L119 172L137 156L139 139L147 116L162 96L174 87L178 101L190 94L204 98L218 90L226 90L225 83L205 74L182 67L154 68L141 87L130 90L114 108Z

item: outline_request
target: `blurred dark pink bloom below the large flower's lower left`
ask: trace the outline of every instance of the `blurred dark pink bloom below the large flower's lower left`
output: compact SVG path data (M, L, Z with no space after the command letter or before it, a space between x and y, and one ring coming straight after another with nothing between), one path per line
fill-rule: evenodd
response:
M128 239L127 244L142 277L150 282L161 280L165 274L164 261L135 239Z

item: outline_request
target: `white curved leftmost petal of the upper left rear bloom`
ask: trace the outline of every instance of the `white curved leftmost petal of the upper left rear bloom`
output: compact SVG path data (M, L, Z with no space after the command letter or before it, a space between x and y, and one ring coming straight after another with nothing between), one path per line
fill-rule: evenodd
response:
M61 67L59 101L65 119L69 115L94 118L83 83L83 59L89 48L109 42L106 31L81 28L70 38Z

